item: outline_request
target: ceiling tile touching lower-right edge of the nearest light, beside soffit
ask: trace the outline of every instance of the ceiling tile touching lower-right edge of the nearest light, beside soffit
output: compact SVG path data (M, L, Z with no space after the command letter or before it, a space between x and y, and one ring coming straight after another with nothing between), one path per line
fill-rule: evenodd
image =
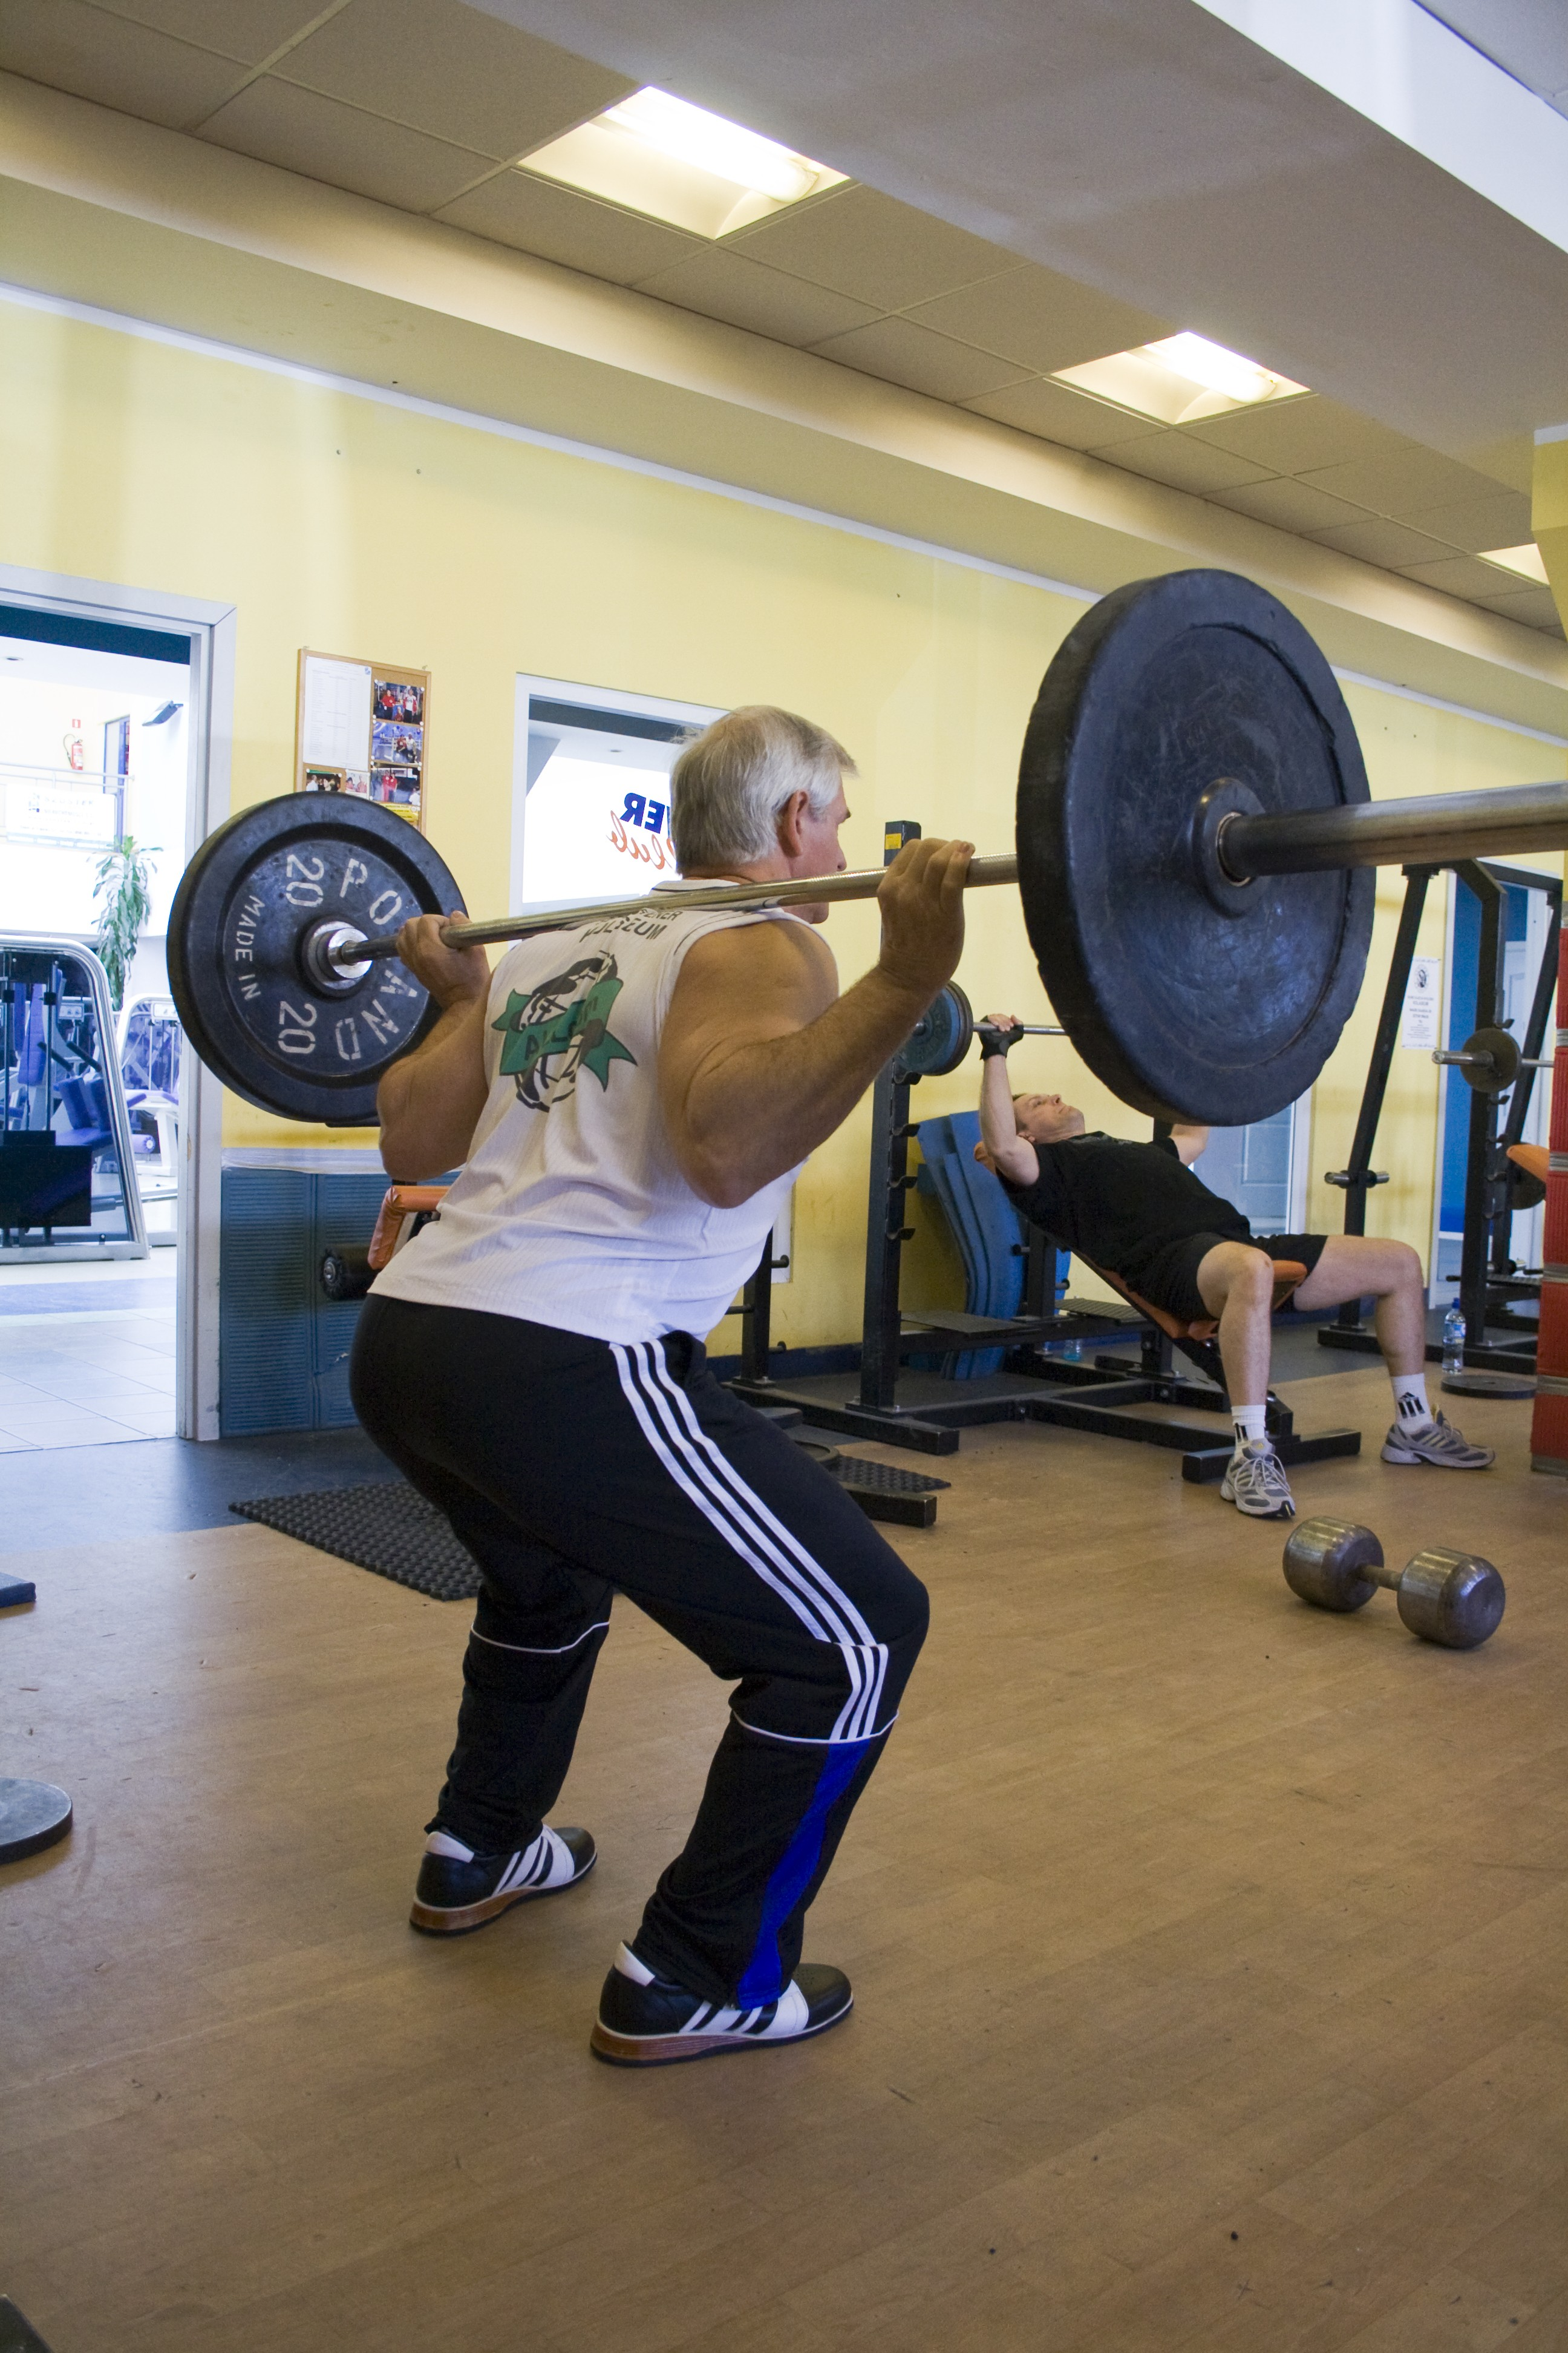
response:
M825 155L823 162L832 162ZM1018 256L933 221L875 188L835 188L726 240L752 261L849 294L872 311L905 311L1013 268Z

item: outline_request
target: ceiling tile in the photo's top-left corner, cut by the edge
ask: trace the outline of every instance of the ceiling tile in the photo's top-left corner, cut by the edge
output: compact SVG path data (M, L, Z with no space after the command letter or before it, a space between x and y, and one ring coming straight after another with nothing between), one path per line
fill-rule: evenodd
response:
M0 71L169 129L200 122L244 80L233 59L106 16L87 0L5 0Z

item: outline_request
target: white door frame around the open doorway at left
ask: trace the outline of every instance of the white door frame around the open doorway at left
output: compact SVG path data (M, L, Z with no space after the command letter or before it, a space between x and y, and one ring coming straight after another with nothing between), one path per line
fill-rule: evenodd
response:
M0 595L35 612L75 621L174 628L190 638L190 729L186 769L186 859L223 824L230 800L235 729L237 607L212 598L132 588L0 562ZM174 1280L176 1431L219 1435L219 1205L223 1165L223 1087L195 1054L181 1054L179 1240Z

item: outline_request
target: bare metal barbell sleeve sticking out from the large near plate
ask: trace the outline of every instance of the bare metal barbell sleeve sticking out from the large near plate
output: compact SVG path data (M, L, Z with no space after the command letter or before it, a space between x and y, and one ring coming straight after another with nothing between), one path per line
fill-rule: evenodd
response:
M1453 866L1472 856L1568 847L1568 786L1514 784L1483 793L1361 800L1288 816L1222 816L1215 854L1229 882L1345 866Z

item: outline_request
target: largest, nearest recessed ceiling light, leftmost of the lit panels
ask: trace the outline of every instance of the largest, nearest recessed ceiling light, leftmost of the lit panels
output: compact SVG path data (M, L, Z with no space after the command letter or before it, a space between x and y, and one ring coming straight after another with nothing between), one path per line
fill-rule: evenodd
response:
M637 89L527 155L517 169L672 221L698 238L724 238L766 221L771 212L799 205L820 188L839 188L846 179L741 122L710 115L705 106L672 99L668 89Z

